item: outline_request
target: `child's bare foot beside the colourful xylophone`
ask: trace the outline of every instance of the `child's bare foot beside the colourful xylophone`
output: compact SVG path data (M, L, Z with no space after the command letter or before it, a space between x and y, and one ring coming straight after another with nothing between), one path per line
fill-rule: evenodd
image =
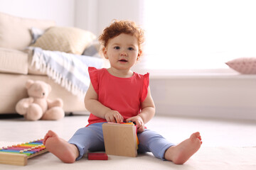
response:
M79 155L78 148L75 145L61 139L51 130L46 133L46 136L43 139L43 145L46 146L46 149L49 152L65 163L75 162L75 159Z

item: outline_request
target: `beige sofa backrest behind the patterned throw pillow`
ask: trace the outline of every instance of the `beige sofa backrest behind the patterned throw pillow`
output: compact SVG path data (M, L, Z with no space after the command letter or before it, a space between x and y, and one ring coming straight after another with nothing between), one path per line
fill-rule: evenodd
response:
M0 13L0 47L23 50L31 44L31 27L45 30L50 26L55 26L55 22Z

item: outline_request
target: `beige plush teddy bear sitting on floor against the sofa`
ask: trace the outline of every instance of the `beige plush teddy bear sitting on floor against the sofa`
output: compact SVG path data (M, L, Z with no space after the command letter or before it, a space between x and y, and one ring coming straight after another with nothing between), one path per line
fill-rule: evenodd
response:
M28 98L23 98L16 104L16 112L26 120L59 120L64 117L62 99L48 99L50 84L28 79L26 89Z

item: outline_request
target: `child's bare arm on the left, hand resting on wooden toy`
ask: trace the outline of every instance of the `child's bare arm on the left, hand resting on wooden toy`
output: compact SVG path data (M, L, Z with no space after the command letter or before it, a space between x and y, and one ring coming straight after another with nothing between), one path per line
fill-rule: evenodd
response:
M95 89L93 89L92 84L90 84L85 95L85 108L93 115L106 119L107 122L122 123L124 120L118 111L113 111L98 101L97 93Z

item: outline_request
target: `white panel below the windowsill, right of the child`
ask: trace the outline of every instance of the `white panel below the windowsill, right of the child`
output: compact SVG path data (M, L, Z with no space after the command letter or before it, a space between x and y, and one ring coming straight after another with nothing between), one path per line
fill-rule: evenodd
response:
M173 76L150 81L156 115L256 120L256 76Z

